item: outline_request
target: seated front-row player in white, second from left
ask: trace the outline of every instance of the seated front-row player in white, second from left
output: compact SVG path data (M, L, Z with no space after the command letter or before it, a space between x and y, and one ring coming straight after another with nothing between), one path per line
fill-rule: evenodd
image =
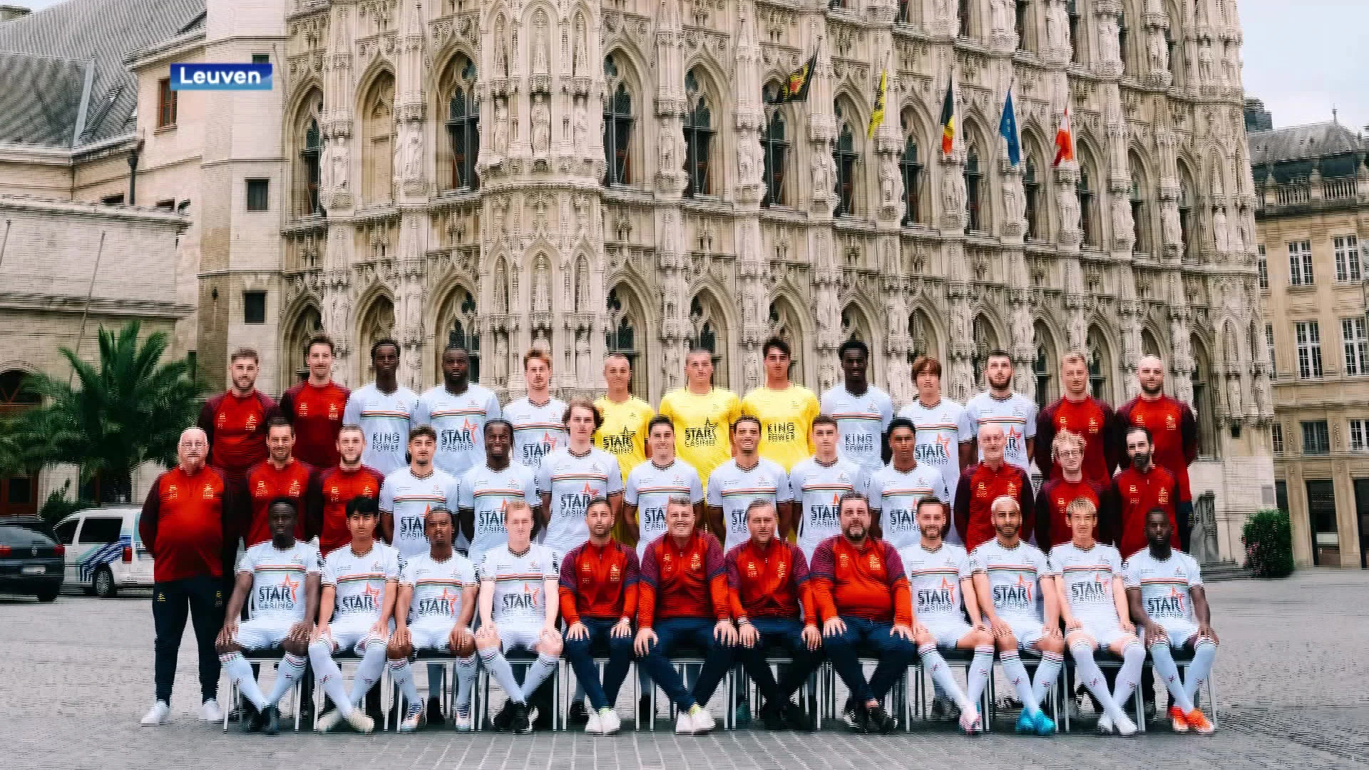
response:
M323 559L319 625L309 643L309 663L335 708L314 723L320 733L342 719L359 733L375 729L357 704L385 670L385 641L400 581L400 552L375 538L378 518L374 499L355 497L346 507L352 544ZM333 660L338 649L353 649L361 656L350 691L342 685L342 671Z

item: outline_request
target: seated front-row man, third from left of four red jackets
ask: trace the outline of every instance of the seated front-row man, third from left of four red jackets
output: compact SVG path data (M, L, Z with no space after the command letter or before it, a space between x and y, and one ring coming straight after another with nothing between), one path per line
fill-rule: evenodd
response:
M808 559L798 545L775 537L778 526L775 503L752 500L746 507L750 538L724 558L737 618L737 659L765 697L761 721L768 729L812 730L812 721L793 696L823 662L823 634L809 593ZM806 622L799 621L799 606ZM765 660L765 651L773 647L794 660L779 682Z

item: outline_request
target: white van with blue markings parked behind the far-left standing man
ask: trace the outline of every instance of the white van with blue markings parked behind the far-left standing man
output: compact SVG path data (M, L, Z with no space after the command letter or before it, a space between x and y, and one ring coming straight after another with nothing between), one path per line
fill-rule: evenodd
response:
M152 554L138 536L141 508L78 511L53 532L67 547L66 585L108 599L120 588L152 588Z

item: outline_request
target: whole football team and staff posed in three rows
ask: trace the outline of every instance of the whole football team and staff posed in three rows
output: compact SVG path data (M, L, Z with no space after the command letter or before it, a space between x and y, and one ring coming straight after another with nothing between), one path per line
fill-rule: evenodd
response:
M698 734L716 728L715 695L735 697L724 722L749 718L754 685L753 723L812 730L820 699L805 696L824 665L849 692L831 714L847 729L916 728L891 696L920 666L930 715L975 734L995 659L1019 733L1055 733L1051 703L1075 688L1099 733L1144 728L1138 689L1160 691L1175 732L1214 730L1198 700L1218 640L1187 554L1197 423L1165 395L1164 362L1140 359L1140 395L1113 408L1079 353L1062 356L1053 404L1012 390L1005 352L965 404L920 358L916 399L895 412L858 340L820 396L790 381L784 340L761 351L765 384L745 397L712 385L701 349L654 407L631 395L622 355L604 362L602 397L565 403L531 349L527 396L500 404L456 345L419 395L381 340L375 381L349 392L318 336L279 400L255 388L257 353L235 351L230 389L182 433L140 519L156 632L142 725L167 721L189 621L203 719L233 711L267 734L290 721L290 693L319 732L612 734L634 663L639 729L657 691L675 732ZM552 695L563 666L571 697ZM482 670L498 708L476 708ZM237 703L220 707L220 675Z

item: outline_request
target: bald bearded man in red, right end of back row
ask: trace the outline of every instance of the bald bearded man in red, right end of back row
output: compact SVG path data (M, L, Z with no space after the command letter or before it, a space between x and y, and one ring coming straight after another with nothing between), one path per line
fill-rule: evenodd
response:
M1127 429L1138 425L1150 430L1151 462L1175 474L1179 499L1175 501L1175 527L1179 549L1188 552L1190 518L1194 510L1192 490L1188 488L1188 466L1198 459L1198 421L1188 404L1165 395L1165 362L1157 356L1142 356L1136 362L1140 395L1117 410L1113 432L1114 454L1125 469Z

